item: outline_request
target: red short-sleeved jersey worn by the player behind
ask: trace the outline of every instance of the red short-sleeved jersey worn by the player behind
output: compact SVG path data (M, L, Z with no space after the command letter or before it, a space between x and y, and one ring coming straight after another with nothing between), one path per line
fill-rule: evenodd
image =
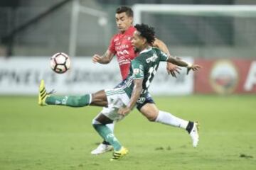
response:
M122 79L129 74L131 61L137 56L131 42L135 30L134 26L130 26L124 33L115 34L110 41L109 50L117 56Z

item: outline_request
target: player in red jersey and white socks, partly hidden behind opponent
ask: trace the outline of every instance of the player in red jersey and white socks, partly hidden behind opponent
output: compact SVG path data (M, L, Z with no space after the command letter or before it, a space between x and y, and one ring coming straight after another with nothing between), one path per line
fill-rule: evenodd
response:
M120 6L116 10L115 19L117 23L117 28L119 33L115 34L111 41L110 46L104 55L94 55L92 57L92 62L98 62L100 64L107 64L111 62L114 55L117 56L117 61L119 63L119 68L122 74L122 79L126 79L129 74L129 67L131 61L137 57L136 52L134 52L134 48L132 46L132 37L136 28L134 28L133 24L133 11L132 8L127 6ZM170 55L168 48L159 39L156 39L152 44L154 47L159 47L159 49L163 52L166 52L167 55ZM171 56L171 55L170 55ZM176 65L168 63L166 65L167 72L171 74L173 77L176 77L176 73L178 72L179 67ZM122 85L122 84L120 84ZM153 99L150 94L146 96L146 98L140 98L137 102L137 109L141 112L149 121L163 123L166 125L172 125L179 128L186 128L187 125L179 125L176 121L174 115L171 113L166 113L164 111L159 111L159 109L154 104ZM102 110L104 112L104 108ZM113 131L114 124L107 124L107 126ZM184 127L183 127L184 126ZM91 154L102 154L104 152L112 150L112 146L108 142L102 142L96 149L94 149Z

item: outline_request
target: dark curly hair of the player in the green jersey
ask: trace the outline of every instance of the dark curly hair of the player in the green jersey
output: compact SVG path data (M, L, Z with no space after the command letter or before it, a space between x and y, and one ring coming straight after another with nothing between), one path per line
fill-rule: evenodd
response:
M137 29L137 31L139 31L140 36L146 38L146 42L148 42L149 44L153 44L155 40L155 32L153 27L149 27L144 23L136 24L136 26L134 27Z

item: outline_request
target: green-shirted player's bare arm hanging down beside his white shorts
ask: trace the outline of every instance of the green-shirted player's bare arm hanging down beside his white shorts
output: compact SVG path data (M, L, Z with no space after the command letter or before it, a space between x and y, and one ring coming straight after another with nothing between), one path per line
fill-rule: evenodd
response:
M132 111L132 108L134 108L136 105L140 94L142 94L142 82L143 79L134 79L134 88L132 89L131 99L125 108L119 108L118 113L120 115L127 115L130 111Z

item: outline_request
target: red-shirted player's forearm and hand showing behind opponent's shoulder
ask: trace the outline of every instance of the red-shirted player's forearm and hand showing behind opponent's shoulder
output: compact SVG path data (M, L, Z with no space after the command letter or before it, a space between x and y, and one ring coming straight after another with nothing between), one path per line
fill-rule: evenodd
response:
M155 38L153 46L158 47L162 52L165 52L167 55L171 56L167 45L163 41ZM170 62L167 62L166 70L167 70L168 74L171 74L172 77L176 77L176 73L179 74L180 72L178 70L181 70L181 68L177 67L174 64L171 64Z

